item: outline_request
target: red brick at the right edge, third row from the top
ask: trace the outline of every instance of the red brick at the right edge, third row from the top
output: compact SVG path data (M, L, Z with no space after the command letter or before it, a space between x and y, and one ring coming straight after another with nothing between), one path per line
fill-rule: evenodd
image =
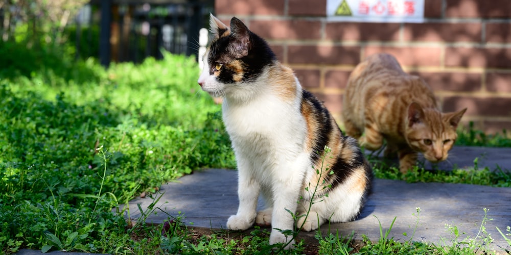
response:
M462 67L511 67L511 48L448 47L446 66Z

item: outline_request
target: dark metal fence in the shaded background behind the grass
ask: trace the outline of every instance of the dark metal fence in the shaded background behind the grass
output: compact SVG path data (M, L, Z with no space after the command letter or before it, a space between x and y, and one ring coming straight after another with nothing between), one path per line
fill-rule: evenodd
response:
M83 43L79 37L90 37L91 28L98 26L99 57L106 66L110 61L141 62L149 56L159 59L160 50L197 56L199 30L207 26L213 1L91 1L76 19L76 41ZM89 34L83 33L87 26Z

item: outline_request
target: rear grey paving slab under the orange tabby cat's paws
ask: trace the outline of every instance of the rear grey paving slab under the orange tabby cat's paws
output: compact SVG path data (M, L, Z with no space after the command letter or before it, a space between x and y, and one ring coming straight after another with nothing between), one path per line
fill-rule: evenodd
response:
M366 151L366 154L373 152ZM376 152L373 155L383 157L383 150L380 154ZM479 169L488 167L492 171L503 170L511 171L511 148L490 148L490 147L477 147L477 146L454 146L449 151L449 157L446 161L438 164L432 164L425 160L422 155L419 155L420 166L425 169L438 169L451 171L456 168L473 169L474 160L477 158ZM394 166L398 166L398 160L391 161Z

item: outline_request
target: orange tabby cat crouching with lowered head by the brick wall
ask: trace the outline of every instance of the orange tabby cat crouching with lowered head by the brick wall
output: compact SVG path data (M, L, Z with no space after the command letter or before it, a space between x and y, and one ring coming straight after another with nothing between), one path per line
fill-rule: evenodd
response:
M405 73L393 56L376 54L350 74L342 116L346 134L361 146L377 150L385 138L385 156L397 152L399 169L406 173L415 165L417 152L432 163L447 159L466 110L440 112L423 79Z

